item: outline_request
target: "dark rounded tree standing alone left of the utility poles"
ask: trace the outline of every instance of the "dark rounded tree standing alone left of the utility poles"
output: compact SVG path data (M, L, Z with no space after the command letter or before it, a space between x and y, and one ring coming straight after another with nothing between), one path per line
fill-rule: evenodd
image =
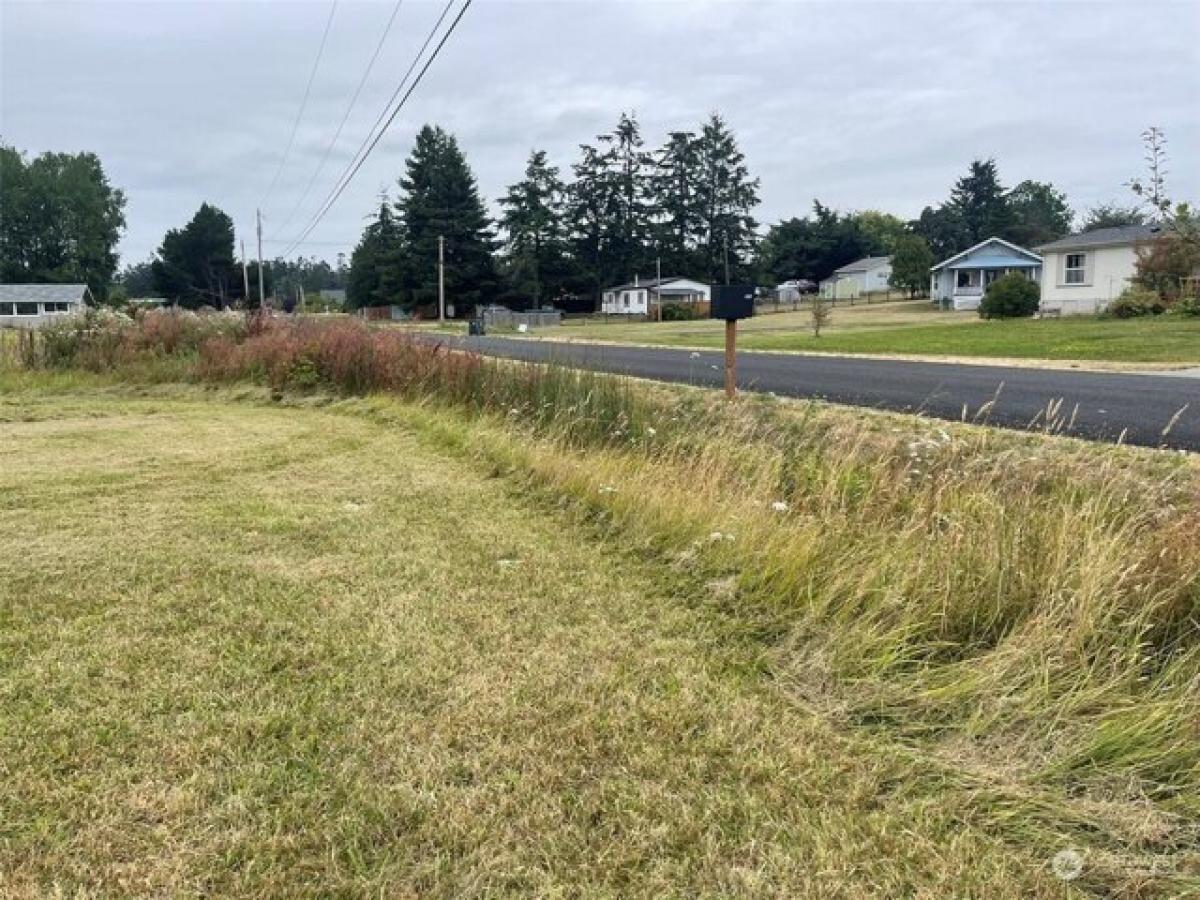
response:
M182 229L167 232L151 269L158 293L180 306L226 307L241 295L241 271L233 256L233 220L202 203Z

